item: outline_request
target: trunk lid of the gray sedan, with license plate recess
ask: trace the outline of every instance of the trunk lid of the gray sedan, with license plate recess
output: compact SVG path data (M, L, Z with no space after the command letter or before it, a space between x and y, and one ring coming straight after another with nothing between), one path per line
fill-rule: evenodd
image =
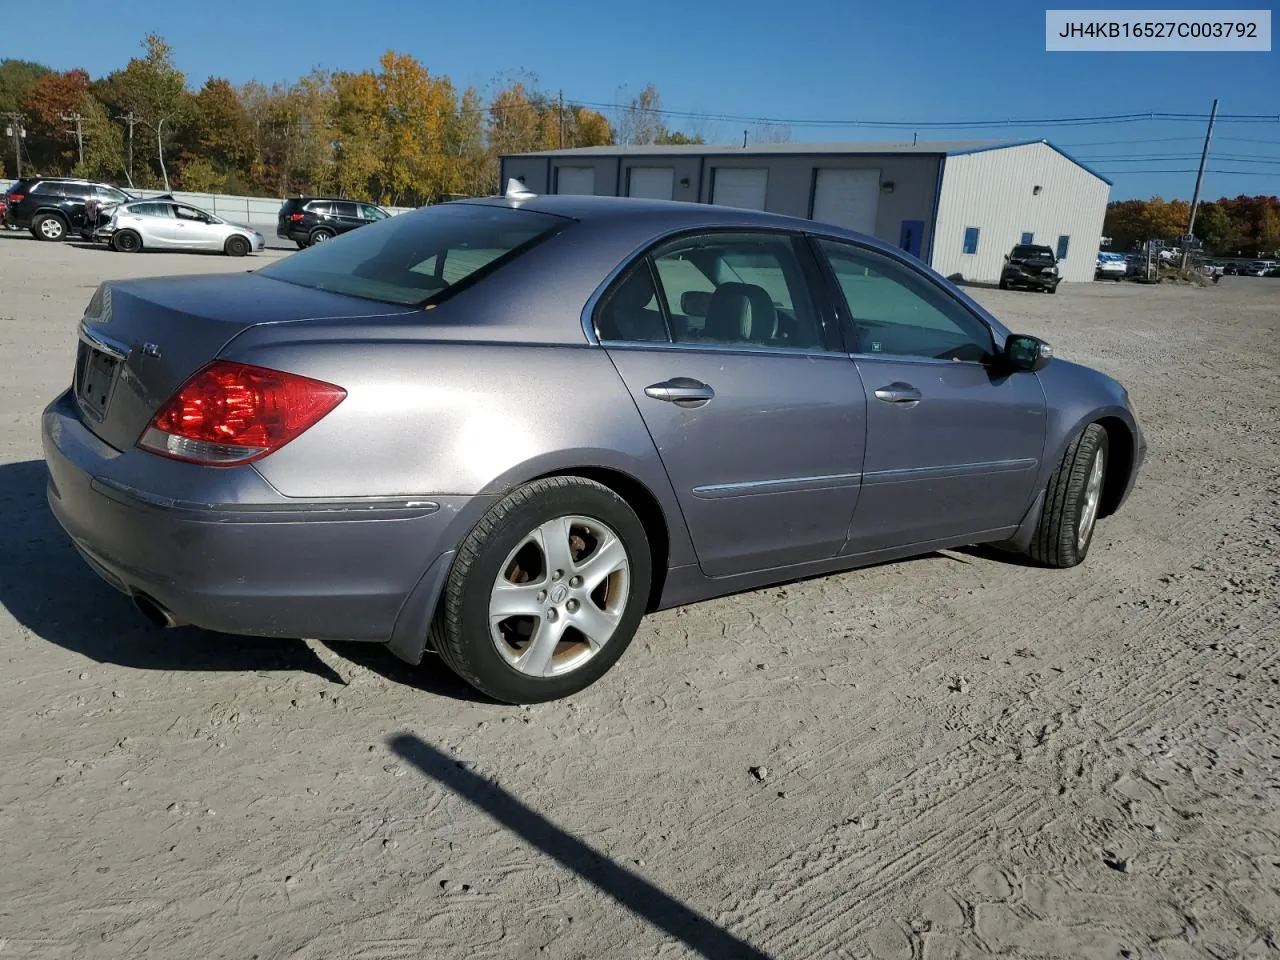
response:
M406 312L251 273L108 280L81 320L72 387L88 429L128 449L178 387L251 326Z

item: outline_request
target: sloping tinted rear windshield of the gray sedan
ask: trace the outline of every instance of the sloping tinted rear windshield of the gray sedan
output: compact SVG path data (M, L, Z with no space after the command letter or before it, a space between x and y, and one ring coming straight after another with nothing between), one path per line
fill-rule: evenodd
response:
M431 303L520 256L567 223L530 210L440 205L316 243L259 274L385 303Z

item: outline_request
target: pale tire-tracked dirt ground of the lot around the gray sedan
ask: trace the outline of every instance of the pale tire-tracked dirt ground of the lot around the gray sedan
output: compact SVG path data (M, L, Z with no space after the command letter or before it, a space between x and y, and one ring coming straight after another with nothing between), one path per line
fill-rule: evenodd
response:
M51 520L97 282L252 265L0 233L0 960L1280 955L1280 282L975 293L1143 417L1084 566L666 612L521 709L154 630Z

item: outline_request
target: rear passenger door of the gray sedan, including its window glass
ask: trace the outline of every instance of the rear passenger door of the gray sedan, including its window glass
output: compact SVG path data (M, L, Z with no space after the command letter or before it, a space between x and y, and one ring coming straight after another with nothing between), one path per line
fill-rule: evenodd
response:
M845 541L867 401L814 280L794 237L710 233L641 260L596 314L708 576Z

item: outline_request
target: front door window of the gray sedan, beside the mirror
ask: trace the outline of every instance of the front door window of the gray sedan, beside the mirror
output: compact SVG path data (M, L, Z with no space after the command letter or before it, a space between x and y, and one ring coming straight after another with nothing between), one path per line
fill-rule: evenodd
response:
M865 247L819 241L852 320L855 353L986 362L991 329L922 273Z

